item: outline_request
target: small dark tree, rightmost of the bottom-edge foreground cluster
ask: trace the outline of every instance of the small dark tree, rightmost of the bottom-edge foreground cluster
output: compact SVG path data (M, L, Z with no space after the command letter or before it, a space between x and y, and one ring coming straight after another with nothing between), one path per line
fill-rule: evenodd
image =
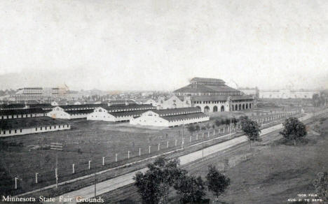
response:
M230 178L220 173L219 170L217 170L217 168L212 164L208 166L206 180L207 188L213 192L214 196L217 196L217 199L230 185Z

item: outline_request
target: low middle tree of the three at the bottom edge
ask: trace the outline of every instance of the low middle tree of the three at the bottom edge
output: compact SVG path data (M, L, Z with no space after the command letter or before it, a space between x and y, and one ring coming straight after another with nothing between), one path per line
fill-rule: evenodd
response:
M205 194L205 184L202 177L184 175L175 184L181 203L201 203Z

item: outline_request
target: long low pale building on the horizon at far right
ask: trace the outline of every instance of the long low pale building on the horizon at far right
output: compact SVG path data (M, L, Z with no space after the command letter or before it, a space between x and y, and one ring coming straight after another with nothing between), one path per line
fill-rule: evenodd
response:
M260 99L312 99L313 94L319 94L317 91L308 90L260 90Z

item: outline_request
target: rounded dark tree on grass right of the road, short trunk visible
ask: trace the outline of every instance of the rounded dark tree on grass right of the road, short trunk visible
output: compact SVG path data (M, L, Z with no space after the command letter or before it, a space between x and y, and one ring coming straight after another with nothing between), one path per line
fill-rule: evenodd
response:
M307 134L305 124L296 117L285 119L282 126L284 126L284 129L280 131L280 134L287 140L294 140L294 145L296 145L296 140L303 138Z

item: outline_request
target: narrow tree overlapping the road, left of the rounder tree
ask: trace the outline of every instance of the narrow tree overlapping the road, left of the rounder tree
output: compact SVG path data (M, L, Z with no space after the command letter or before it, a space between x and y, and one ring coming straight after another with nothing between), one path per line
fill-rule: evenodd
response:
M242 118L240 122L242 131L244 131L247 136L250 147L252 142L260 141L259 133L261 130L259 129L259 124L257 124L257 122L252 121L252 119L248 119L248 117Z

